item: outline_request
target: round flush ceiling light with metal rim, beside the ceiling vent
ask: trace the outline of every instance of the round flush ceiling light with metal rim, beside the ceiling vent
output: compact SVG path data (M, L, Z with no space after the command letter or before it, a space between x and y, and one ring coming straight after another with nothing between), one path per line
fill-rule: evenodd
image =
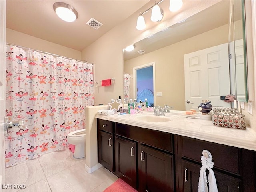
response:
M58 17L66 22L73 22L78 18L78 12L75 8L64 2L54 3L53 9Z

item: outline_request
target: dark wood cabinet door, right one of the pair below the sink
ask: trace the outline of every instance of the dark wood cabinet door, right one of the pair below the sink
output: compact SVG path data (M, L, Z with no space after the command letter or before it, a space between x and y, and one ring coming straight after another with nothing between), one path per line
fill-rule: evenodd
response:
M174 191L173 156L142 144L139 146L140 191Z

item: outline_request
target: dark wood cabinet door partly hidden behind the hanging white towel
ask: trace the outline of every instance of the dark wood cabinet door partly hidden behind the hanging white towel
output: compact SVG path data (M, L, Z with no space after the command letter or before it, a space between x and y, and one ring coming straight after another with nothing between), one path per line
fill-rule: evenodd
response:
M182 160L183 187L185 192L198 192L200 168L198 164ZM214 171L218 192L240 192L241 180L217 171Z

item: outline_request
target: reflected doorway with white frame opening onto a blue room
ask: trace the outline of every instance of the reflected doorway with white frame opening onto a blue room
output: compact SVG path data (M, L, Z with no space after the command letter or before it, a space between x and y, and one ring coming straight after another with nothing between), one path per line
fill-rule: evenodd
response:
M155 103L155 62L133 68L134 98L137 102L148 100L148 106Z

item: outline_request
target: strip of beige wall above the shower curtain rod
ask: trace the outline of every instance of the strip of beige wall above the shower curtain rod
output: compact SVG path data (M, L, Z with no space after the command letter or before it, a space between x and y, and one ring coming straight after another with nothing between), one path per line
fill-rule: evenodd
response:
M81 52L6 28L6 43L81 60Z

